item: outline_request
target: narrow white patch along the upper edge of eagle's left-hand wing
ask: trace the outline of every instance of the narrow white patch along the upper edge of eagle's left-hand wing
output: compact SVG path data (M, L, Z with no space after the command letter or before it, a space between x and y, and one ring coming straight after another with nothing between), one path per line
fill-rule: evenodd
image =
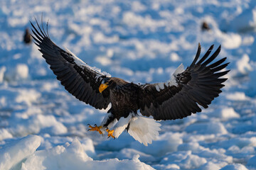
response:
M96 72L97 74L100 74L100 76L106 76L106 77L111 77L111 75L107 72L101 72L101 69L98 69L97 67L90 67L90 65L86 64L85 62L83 62L82 60L80 60L80 58L78 58L76 55L73 54L73 52L70 52L70 50L68 50L67 47L64 47L66 52L70 53L73 57L73 59L75 60L75 64L78 64L78 66L84 66L87 69L90 69L94 72Z

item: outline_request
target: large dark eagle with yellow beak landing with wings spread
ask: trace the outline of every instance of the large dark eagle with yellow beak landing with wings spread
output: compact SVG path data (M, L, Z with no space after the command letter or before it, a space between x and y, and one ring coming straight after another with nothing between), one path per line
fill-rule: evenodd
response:
M211 45L199 59L199 43L191 65L184 69L181 64L169 81L135 84L90 67L70 50L55 45L48 35L48 22L46 30L43 27L43 19L41 26L38 21L31 26L38 50L70 94L97 109L106 109L111 103L102 123L99 126L88 124L89 130L101 135L107 133L113 138L127 130L146 146L159 135L161 124L157 120L182 119L201 112L202 107L208 108L222 92L220 89L227 80L223 76L230 71L225 69L229 64L225 62L227 57L213 62L220 53L220 46L210 55Z

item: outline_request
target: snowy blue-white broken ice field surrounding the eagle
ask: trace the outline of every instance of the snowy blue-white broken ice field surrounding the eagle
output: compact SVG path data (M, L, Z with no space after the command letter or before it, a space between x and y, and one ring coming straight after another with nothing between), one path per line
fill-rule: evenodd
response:
M201 42L202 53L222 45L228 81L202 113L162 121L148 147L87 132L106 111L68 94L22 42L42 13L57 45L112 77L166 81ZM0 169L256 169L254 0L3 0L0 23Z

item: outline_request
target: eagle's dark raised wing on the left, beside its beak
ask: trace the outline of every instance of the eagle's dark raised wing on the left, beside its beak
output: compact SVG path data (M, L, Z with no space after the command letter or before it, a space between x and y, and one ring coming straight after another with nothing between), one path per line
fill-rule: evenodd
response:
M95 108L107 108L110 103L109 91L106 90L100 94L99 86L102 79L110 77L110 74L103 74L100 69L90 67L82 62L72 52L62 50L50 40L48 30L44 30L43 23L42 28L37 21L36 24L38 29L31 23L35 44L40 47L39 51L42 52L43 58L46 59L50 69L53 70L65 89L80 101L84 101Z

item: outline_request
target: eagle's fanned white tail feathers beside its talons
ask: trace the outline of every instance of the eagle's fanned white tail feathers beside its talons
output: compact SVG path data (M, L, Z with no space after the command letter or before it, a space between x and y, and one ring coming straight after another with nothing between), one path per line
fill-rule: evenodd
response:
M152 143L152 140L156 140L159 136L159 130L161 124L151 118L145 118L137 115L129 122L129 135L134 137L134 140L143 143L145 146Z

